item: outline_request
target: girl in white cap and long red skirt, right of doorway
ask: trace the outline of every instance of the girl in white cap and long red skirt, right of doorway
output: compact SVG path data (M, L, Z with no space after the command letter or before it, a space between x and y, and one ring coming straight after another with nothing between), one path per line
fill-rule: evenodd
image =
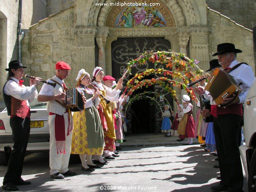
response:
M193 138L195 137L195 121L192 116L193 105L189 101L190 101L190 98L188 95L182 96L182 102L183 102L184 108L182 110L183 117L179 124L179 128L183 127L184 129L184 126L185 126L184 137L187 138L187 142L183 143L183 145L193 144Z

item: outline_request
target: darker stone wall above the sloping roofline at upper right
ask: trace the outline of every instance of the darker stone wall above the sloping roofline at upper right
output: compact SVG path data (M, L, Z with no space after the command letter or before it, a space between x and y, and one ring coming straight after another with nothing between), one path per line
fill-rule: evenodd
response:
M210 9L230 17L236 23L252 29L256 26L255 0L206 0Z

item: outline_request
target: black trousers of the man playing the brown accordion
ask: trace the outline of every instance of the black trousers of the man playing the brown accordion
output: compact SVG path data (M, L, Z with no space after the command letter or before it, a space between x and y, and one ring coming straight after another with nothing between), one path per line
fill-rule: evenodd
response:
M242 191L243 169L239 152L242 117L234 114L214 118L214 134L218 152L221 182L230 191Z

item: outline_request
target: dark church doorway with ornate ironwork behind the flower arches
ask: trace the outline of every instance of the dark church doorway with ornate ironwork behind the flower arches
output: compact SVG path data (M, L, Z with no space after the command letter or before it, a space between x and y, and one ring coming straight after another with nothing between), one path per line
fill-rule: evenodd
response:
M137 58L147 50L168 51L170 48L170 42L165 40L164 37L118 38L116 41L113 41L111 45L112 75L116 79L120 78L123 74L123 70L126 68L126 62ZM162 67L164 68L164 66ZM126 78L124 79L124 86L136 73L141 73L145 69L152 68L156 69L154 63L151 62L148 62L147 65L142 67L134 67L132 69L132 75L126 75ZM161 75L152 75L147 78L151 79L159 76ZM125 87L123 89L125 89ZM168 94L166 94L166 92L157 85L137 90L133 95L144 91L165 94L165 97L169 99L169 103L173 104L173 101L168 97ZM158 102L162 106L165 104L164 102L159 101L159 98ZM129 109L127 109L126 118L130 120L130 123L127 126L127 131L132 134L157 132L160 130L162 122L161 110L157 108L156 104L150 105L148 100L135 101Z

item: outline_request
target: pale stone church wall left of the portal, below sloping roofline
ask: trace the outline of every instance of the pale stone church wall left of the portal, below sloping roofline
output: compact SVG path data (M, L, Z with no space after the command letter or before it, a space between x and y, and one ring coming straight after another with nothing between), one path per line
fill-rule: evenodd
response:
M71 7L32 26L23 40L23 63L28 74L44 80L55 75L55 64L67 62L72 70L66 80L74 88L78 74L77 39L74 33L76 9ZM40 87L39 89L40 90Z

